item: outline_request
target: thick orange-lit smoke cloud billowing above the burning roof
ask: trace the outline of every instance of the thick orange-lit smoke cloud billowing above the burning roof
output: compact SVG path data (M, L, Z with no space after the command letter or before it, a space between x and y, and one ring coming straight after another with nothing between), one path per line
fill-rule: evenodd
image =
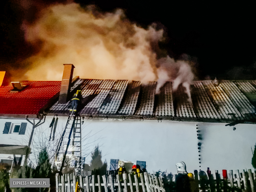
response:
M88 9L90 8L90 9ZM61 80L64 63L74 75L92 79L127 79L142 83L158 79L157 93L166 81L180 84L189 94L193 73L185 61L167 56L157 60L163 30L147 30L125 18L122 10L99 13L78 4L51 5L36 22L23 23L25 39L39 50L26 59L28 80ZM39 47L38 47L39 46ZM25 77L24 77L25 78Z

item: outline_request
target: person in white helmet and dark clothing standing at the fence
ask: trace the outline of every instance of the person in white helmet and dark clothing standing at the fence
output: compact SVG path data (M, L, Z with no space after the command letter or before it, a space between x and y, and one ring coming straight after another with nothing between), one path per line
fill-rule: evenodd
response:
M176 177L176 191L177 192L191 192L190 181L186 165L183 161L176 163L178 176Z

